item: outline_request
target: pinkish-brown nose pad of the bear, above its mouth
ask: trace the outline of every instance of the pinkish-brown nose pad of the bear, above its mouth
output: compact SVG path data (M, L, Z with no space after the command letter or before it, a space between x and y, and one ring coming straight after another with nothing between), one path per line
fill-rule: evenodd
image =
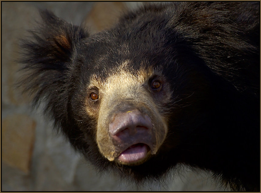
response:
M133 136L142 130L151 130L152 123L146 114L139 110L128 110L123 113L117 113L111 123L109 123L110 135L117 137Z

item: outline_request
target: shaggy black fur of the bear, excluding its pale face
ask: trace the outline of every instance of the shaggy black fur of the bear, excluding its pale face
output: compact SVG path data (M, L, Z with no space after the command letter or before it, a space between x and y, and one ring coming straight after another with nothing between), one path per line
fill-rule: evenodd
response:
M129 12L93 36L48 11L24 41L22 84L47 102L72 145L97 168L159 179L177 163L212 171L232 190L260 191L259 2L185 2ZM119 166L98 151L97 120L84 111L90 74L131 59L161 69L173 92L169 133L156 156Z

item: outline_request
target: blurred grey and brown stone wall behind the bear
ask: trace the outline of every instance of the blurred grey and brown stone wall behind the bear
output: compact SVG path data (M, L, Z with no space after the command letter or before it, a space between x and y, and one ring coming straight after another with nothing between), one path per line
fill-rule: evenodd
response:
M136 187L105 173L97 174L52 122L30 106L31 97L14 84L20 75L19 38L39 19L37 8L79 25L93 34L111 26L122 11L142 2L2 2L2 191L216 191L211 178L184 168L162 185Z

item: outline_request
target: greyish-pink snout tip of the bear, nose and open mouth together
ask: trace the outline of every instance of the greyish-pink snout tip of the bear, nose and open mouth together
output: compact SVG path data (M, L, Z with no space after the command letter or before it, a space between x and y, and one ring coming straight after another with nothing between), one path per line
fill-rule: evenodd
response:
M137 109L115 114L109 123L109 135L121 151L115 161L125 165L142 163L155 146L152 129L149 116Z

